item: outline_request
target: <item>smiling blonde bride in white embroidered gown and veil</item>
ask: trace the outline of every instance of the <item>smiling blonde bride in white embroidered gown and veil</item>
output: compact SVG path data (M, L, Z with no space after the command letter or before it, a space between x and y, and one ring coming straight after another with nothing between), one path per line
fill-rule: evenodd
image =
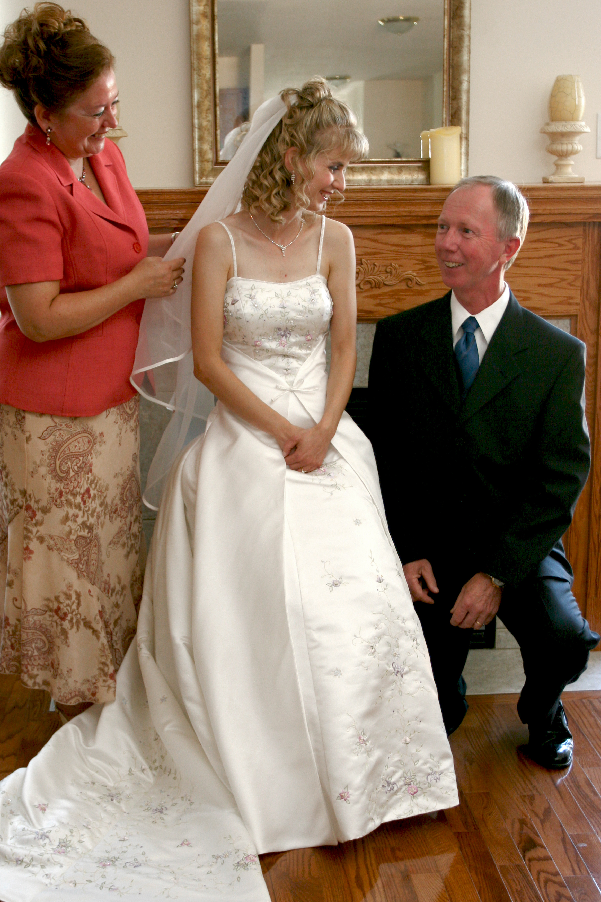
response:
M147 305L142 391L160 400L178 363L150 482L210 397L192 356L219 400L168 474L114 704L0 783L3 902L259 902L259 852L458 804L371 446L343 412L352 238L319 214L365 139L321 79L282 97L174 245L189 271L196 244L193 278Z

